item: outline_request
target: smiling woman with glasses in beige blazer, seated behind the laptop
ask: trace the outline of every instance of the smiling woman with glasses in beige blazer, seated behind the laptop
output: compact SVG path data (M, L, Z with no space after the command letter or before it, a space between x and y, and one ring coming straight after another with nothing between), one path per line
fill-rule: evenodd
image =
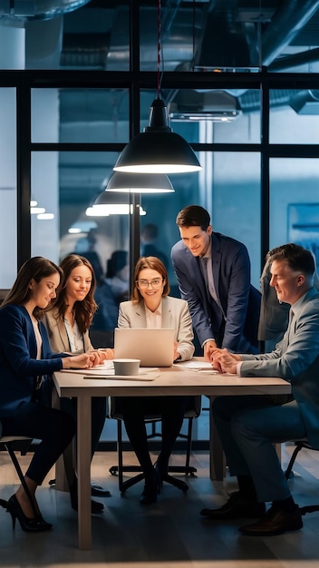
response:
M194 353L193 330L187 301L171 298L169 280L157 257L141 257L134 269L131 301L122 302L119 328L174 328L174 359L185 361ZM154 346L156 348L156 346ZM171 454L183 423L189 397L121 397L122 413L131 445L145 478L140 503L157 500L160 485L168 475ZM161 414L162 445L156 468L150 459L144 416L156 408Z

